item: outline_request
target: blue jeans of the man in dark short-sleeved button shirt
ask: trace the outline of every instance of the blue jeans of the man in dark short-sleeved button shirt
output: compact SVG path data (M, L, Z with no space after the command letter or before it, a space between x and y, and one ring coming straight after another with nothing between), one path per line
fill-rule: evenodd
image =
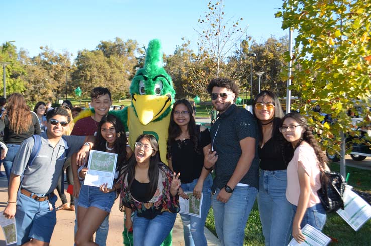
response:
M252 186L236 186L227 203L217 200L219 192L217 188L211 201L218 238L222 245L243 245L247 219L258 191Z

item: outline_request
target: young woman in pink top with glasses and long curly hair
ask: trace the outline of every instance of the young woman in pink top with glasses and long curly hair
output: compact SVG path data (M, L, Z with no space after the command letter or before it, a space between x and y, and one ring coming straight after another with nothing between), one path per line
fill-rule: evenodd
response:
M298 242L303 242L305 237L301 228L309 224L322 230L326 222L326 211L317 190L321 187L321 170L327 169L327 158L303 116L289 113L282 120L279 130L295 149L294 157L287 167L286 188L286 198L293 204L295 212L292 236Z

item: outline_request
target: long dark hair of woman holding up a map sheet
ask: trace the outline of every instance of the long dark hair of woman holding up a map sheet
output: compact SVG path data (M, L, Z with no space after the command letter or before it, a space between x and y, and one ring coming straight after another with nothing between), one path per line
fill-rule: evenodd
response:
M101 121L98 124L98 131L93 149L103 152L106 151L107 141L103 138L101 133L102 125L106 122L111 123L115 127L117 139L114 143L114 153L118 154L116 171L122 172L127 159L126 144L128 142L128 139L126 138L123 124L116 116L108 114L102 117Z

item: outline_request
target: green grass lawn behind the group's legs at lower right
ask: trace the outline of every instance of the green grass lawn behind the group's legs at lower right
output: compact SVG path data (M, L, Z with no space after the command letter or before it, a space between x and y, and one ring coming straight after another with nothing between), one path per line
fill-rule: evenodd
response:
M332 163L330 169L339 171L338 163ZM348 184L354 188L371 193L371 171L346 167L346 172L350 173ZM216 235L214 227L213 210L210 208L205 226ZM332 238L330 245L337 246L365 246L371 245L371 220L364 224L358 231L354 231L337 213L327 214L326 225L323 233ZM245 242L248 246L263 246L264 236L259 218L257 203L250 213L247 226L245 228Z

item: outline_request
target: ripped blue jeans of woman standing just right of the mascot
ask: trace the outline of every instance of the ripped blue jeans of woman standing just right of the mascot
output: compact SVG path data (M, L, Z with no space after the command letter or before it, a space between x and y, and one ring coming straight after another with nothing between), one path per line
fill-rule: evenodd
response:
M198 179L193 180L191 183L181 184L183 191L193 191L197 184ZM202 205L201 205L201 218L191 216L188 214L180 214L183 222L184 241L185 246L194 245L207 245L206 237L204 234L205 220L211 205L211 186L213 179L209 174L202 187Z

